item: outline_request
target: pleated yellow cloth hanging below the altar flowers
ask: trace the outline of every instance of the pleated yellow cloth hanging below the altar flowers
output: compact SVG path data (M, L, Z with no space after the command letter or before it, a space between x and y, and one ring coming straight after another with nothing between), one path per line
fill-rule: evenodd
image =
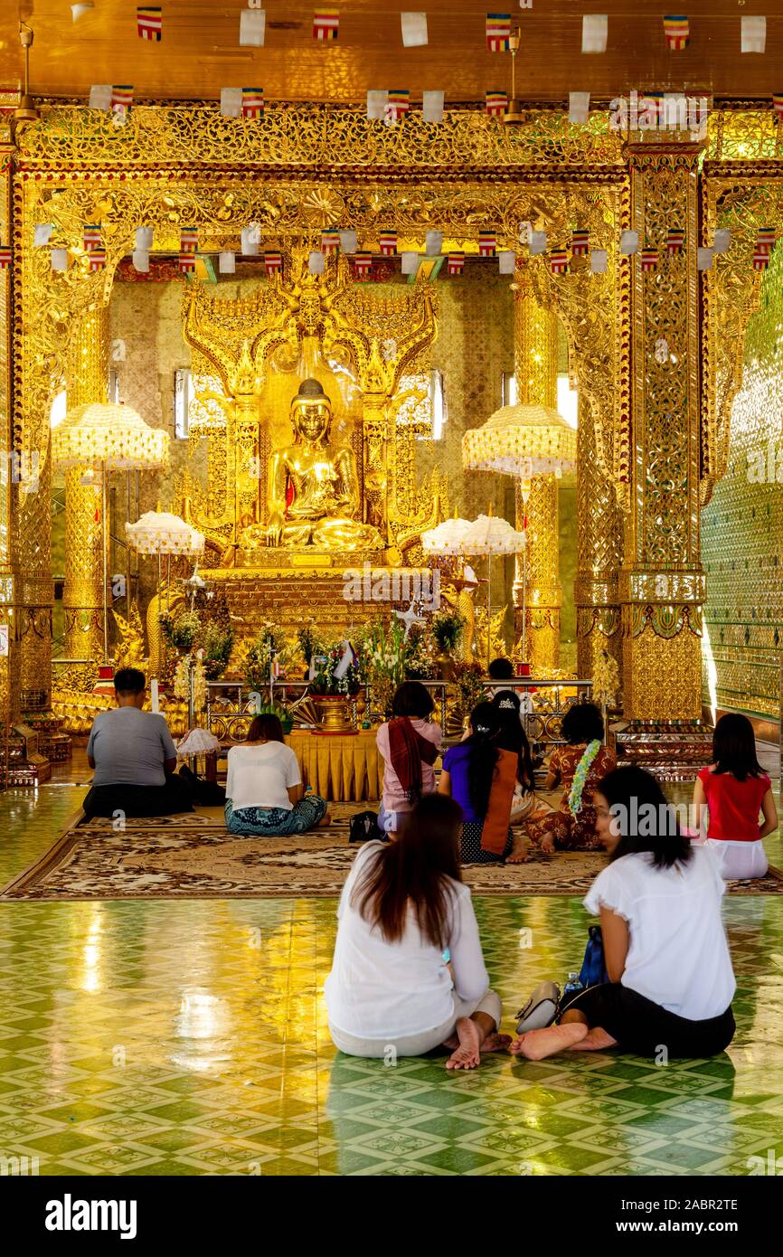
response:
M302 781L332 802L378 799L383 787L383 759L375 732L318 734L295 729L287 739L293 747Z

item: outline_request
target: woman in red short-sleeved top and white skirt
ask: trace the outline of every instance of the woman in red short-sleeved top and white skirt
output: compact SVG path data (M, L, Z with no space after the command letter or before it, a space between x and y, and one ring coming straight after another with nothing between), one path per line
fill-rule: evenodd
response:
M721 715L713 734L713 760L694 786L694 811L701 816L706 804L710 813L706 845L725 881L763 877L767 855L762 838L777 830L778 813L772 782L755 757L748 716L734 711Z

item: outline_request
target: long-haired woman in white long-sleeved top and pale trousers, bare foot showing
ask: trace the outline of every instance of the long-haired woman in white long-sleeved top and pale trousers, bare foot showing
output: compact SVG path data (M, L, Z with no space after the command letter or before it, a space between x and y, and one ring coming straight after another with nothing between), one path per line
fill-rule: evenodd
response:
M500 999L489 991L470 891L463 885L463 812L442 794L412 810L395 842L359 850L337 910L326 980L332 1040L348 1056L422 1056L471 1070L505 1048Z

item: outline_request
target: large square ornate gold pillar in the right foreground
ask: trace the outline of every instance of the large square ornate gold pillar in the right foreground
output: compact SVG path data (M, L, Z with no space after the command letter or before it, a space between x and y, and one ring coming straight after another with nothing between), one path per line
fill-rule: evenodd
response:
M641 140L641 137L640 137ZM632 456L620 576L623 709L632 720L701 715L699 542L699 146L628 145L632 259ZM667 256L670 229L685 231ZM642 272L641 249L657 249Z

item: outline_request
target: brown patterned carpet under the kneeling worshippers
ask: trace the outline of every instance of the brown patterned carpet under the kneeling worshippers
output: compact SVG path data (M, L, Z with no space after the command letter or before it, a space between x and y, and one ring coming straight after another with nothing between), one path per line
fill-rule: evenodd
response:
M150 820L82 823L72 817L53 846L5 886L4 900L248 899L339 895L358 843L348 842L351 816L367 804L331 804L333 825L284 838L226 833L221 808ZM583 896L605 865L598 852L535 848L523 865L468 865L476 895ZM730 882L733 894L780 895L783 875Z

